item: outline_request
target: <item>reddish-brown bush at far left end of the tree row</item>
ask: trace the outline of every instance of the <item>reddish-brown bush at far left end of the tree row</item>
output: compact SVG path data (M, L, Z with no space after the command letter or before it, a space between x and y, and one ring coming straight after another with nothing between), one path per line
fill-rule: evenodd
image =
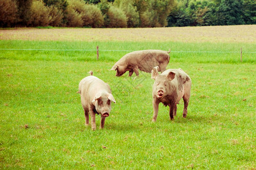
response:
M0 1L0 27L11 27L16 22L18 7L15 1Z

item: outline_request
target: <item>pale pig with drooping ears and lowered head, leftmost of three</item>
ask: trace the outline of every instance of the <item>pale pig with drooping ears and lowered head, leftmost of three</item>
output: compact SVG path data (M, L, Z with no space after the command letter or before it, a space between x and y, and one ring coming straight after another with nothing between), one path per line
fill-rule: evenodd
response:
M93 76L89 72L79 83L79 94L81 96L82 108L84 108L85 126L89 125L89 113L92 124L92 130L96 130L95 115L101 114L100 128L104 128L105 118L109 116L112 101L115 103L114 96L110 87L103 80Z

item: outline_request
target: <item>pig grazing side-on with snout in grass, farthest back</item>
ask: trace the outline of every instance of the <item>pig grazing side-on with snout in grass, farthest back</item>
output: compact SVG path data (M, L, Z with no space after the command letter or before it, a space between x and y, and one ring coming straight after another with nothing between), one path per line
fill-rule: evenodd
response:
M126 54L119 59L111 70L116 70L115 76L121 76L129 71L129 76L133 72L139 76L139 70L151 73L153 67L158 66L161 73L166 70L166 66L170 61L169 53L171 50L140 50Z

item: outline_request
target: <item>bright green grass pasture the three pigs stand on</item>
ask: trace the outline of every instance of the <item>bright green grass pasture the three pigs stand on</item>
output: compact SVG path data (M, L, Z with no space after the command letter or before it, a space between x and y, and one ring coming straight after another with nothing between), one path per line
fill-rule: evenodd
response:
M129 37L130 29L125 30ZM6 36L1 31L0 39ZM0 48L70 51L0 51L0 169L256 168L256 54L249 53L255 52L255 37L238 42L32 40L1 39ZM71 51L97 45L98 61L96 51ZM104 50L169 48L167 69L180 67L192 79L188 115L182 118L181 102L170 121L168 108L160 104L153 123L151 75L115 77L109 70L127 52ZM96 131L85 127L77 94L90 70L110 85L117 101L104 129L98 129L96 116Z

